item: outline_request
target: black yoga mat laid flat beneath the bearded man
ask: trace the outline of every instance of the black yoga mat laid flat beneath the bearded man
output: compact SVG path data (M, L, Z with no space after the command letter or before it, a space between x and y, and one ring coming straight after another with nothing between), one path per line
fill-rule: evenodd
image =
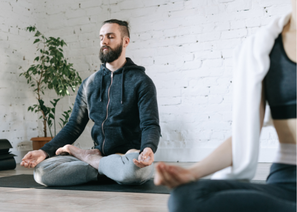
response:
M207 180L207 179L201 179ZM265 184L265 180L251 180L252 183ZM133 193L153 193L169 194L170 190L165 186L155 186L151 178L142 185L120 185L107 177L99 178L99 181L92 181L82 185L72 186L44 186L35 182L32 174L20 174L14 176L0 177L0 187L14 188L38 188L57 189L74 191L109 191L109 192L133 192Z

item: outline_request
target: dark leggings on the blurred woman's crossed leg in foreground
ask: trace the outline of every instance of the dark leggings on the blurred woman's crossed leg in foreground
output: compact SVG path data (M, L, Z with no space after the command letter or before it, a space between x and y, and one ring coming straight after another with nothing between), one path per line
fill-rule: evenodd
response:
M267 184L198 180L174 189L170 212L296 212L296 166L273 164Z

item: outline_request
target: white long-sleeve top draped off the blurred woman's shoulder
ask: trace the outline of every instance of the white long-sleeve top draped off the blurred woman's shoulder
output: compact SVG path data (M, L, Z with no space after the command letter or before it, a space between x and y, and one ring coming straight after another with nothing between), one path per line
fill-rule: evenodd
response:
M233 165L217 171L212 179L250 180L255 175L259 154L262 81L269 70L269 54L275 39L290 20L290 14L276 18L272 23L247 38L234 51ZM270 113L265 113L267 114L270 115Z

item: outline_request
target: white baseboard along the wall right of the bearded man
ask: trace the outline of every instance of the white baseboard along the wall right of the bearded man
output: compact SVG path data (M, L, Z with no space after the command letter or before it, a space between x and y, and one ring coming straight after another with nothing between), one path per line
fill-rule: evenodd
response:
M199 162L208 156L215 148L193 149L158 149L154 160L164 162ZM260 148L259 163L272 163L277 148Z

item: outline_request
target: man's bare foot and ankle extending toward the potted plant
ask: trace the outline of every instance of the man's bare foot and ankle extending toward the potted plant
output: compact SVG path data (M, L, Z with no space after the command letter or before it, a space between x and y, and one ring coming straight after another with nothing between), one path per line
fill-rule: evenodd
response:
M70 155L77 159L88 163L90 166L98 170L99 161L102 158L102 154L99 149L80 149L72 145L65 145L56 151L56 155L63 152L68 152Z

